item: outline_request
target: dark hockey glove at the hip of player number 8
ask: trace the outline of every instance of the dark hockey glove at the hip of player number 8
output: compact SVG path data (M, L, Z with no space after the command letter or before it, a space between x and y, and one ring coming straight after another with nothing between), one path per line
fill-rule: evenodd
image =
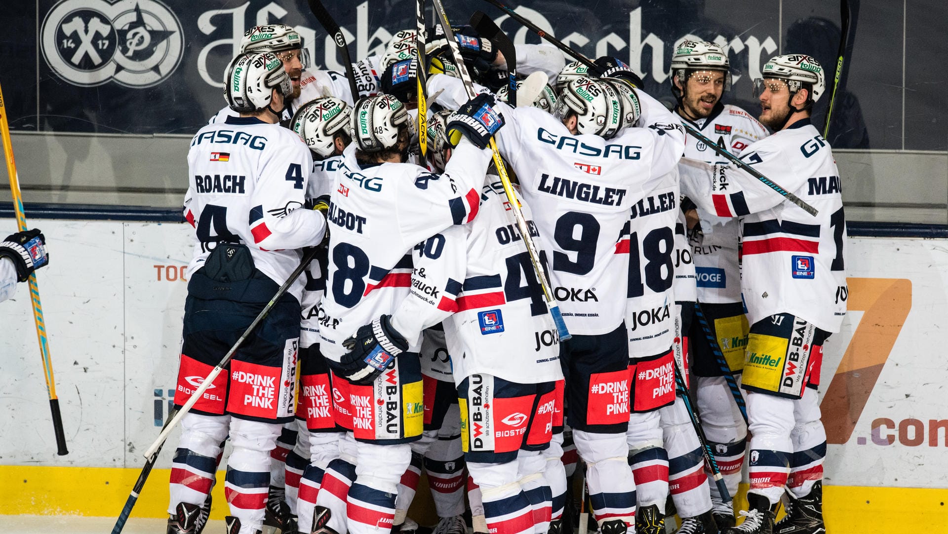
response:
M395 357L409 349L402 334L392 328L389 315L382 315L371 325L356 330L356 335L342 342L349 352L335 364L337 374L351 383L368 385L394 361Z

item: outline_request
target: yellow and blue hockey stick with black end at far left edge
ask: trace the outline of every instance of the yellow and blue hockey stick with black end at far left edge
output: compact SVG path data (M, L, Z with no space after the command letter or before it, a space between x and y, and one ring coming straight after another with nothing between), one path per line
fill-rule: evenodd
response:
M13 146L9 139L7 122L7 104L0 90L0 134L3 136L3 152L7 159L9 190L13 194L13 209L16 212L16 225L21 232L27 231L27 216L23 210L23 197L20 195L20 175L16 172L16 160L13 159ZM46 394L49 397L49 410L52 412L53 433L56 435L56 454L69 454L65 448L63 416L59 411L59 398L56 396L56 382L53 380L53 363L46 339L46 321L43 319L43 303L40 301L40 286L36 283L36 273L29 274L29 298L33 302L33 322L36 324L36 339L40 343L40 357L43 359L43 374L46 376Z

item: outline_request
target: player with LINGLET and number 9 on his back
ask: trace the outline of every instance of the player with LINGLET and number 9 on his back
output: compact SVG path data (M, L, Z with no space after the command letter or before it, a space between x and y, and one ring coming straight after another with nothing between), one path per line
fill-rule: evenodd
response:
M439 101L447 106L464 94L444 77L429 83L432 94L445 89ZM630 207L674 168L684 133L664 106L619 80L570 82L556 116L499 105L512 125L500 136L501 151L548 236L554 292L573 334L560 344L560 358L593 512L604 532L625 532L635 521L625 436L629 346L625 301L614 295L626 293L629 256L615 254L616 244ZM640 111L647 127L630 127Z

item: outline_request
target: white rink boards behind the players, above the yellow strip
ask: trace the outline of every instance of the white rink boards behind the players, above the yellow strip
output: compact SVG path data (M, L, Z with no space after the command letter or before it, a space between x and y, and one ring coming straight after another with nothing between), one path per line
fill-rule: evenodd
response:
M0 227L15 227L12 220L3 223ZM191 226L56 220L33 225L46 234L51 253L50 265L38 278L70 454L55 454L28 294L21 285L14 300L0 304L5 332L0 336L0 428L5 430L0 462L140 467L140 453L158 434L155 401L163 418L168 390L174 387L187 288L180 275L191 258ZM851 278L907 278L910 296L902 300L911 298L911 309L901 331L896 329L895 345L861 413L861 404L823 407L825 420L839 419L840 410L859 416L845 441L830 440L828 483L944 487L939 473L948 472L943 454L948 430L938 421L948 427L943 401L948 365L939 347L948 347L943 325L948 243L850 238L847 269ZM850 312L843 331L830 338L821 394L865 314ZM877 419L891 419L892 428L883 425L874 436ZM917 443L914 430L920 424ZM929 442L933 427L940 428L935 446ZM156 468L170 467L172 450L162 452Z

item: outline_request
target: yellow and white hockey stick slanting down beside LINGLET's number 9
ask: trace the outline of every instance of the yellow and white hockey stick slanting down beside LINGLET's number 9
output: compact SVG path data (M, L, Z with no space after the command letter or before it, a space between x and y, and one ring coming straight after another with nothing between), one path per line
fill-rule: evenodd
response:
M465 85L467 98L474 98L474 85L471 83L470 74L467 73L467 66L465 65L464 58L461 57L461 51L458 48L458 41L454 37L454 31L451 30L451 23L447 20L445 6L441 3L441 0L432 0L432 2L434 3L434 9L436 11L435 14L438 16L438 22L441 24L442 29L445 30L445 38L447 39L447 45L451 50L451 57L458 65L458 75L461 76L461 81ZM566 341L570 339L572 335L570 334L570 331L566 329L566 323L563 321L563 315L559 312L559 307L556 306L556 298L553 296L553 291L550 289L550 281L547 279L546 272L543 271L543 266L539 262L537 245L534 244L534 240L530 237L530 231L527 228L526 219L523 218L523 212L520 210L520 201L517 200L517 193L514 191L514 187L510 184L510 177L507 176L507 168L503 164L501 151L497 149L497 141L494 140L493 136L490 137L490 150L493 152L494 166L497 168L497 174L501 177L503 192L507 194L507 201L510 203L510 211L514 214L514 219L517 221L517 228L520 230L520 237L523 238L523 242L526 244L527 254L530 256L530 261L533 263L534 271L537 273L539 285L543 289L543 296L546 300L547 310L550 311L550 315L553 317L554 323L556 323L556 332L559 335L560 341Z

